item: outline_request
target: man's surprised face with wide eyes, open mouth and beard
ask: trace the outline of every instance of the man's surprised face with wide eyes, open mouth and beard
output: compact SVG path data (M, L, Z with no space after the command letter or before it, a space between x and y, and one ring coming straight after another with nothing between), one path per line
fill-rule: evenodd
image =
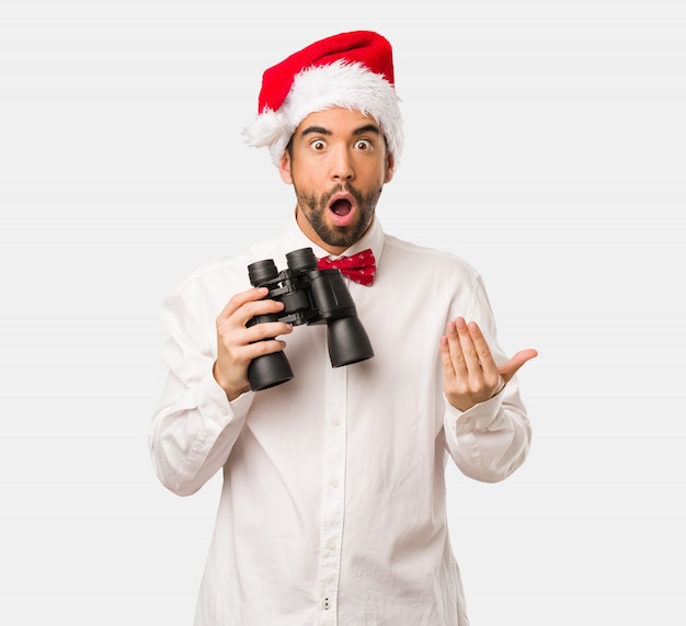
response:
M371 117L328 109L311 113L296 128L279 172L295 189L302 231L328 252L340 254L369 228L392 166Z

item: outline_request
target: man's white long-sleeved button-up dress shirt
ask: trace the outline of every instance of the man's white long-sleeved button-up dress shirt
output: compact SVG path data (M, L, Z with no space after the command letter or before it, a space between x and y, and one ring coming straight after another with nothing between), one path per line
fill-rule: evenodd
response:
M476 320L496 362L480 275L461 259L386 235L373 286L348 282L375 356L333 368L325 326L285 337L295 377L229 402L215 382L216 318L250 287L247 266L312 244L283 235L193 273L162 307L169 377L150 430L155 470L175 493L217 471L221 498L196 626L466 626L446 520L451 458L492 482L525 459L530 428L516 378L466 412L443 395L439 338ZM346 280L347 281L347 280Z

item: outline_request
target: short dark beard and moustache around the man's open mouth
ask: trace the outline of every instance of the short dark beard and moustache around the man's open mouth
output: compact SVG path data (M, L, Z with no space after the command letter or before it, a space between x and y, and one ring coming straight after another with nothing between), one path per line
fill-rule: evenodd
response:
M294 185L295 186L295 185ZM316 193L307 193L295 187L298 206L309 221L310 226L317 232L319 238L328 246L336 248L350 248L358 241L367 231L374 214L376 204L381 195L381 186L373 189L364 194L353 189L351 185L338 185L330 192L322 195ZM350 193L357 203L357 215L350 226L329 226L327 224L327 212L329 210L329 202L336 193L345 191Z

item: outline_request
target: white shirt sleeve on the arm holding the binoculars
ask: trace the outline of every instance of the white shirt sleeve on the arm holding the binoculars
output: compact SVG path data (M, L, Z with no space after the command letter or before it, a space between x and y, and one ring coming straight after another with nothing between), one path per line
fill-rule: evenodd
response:
M254 397L229 402L215 380L216 338L207 330L214 318L202 303L187 285L162 307L168 375L148 441L158 478L180 496L196 492L224 466Z

